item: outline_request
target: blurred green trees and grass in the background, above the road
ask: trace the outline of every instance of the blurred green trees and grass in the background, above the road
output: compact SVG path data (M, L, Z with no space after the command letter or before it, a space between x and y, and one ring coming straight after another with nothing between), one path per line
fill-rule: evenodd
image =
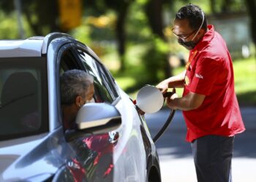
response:
M0 39L69 33L91 47L135 98L144 84L184 69L188 51L171 28L178 9L189 3L203 9L227 42L240 106L255 106L255 0L1 0Z

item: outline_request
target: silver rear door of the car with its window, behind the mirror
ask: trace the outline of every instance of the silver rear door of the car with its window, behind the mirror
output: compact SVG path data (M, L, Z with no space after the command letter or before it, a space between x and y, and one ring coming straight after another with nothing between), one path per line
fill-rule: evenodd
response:
M110 133L113 148L114 181L146 181L146 151L141 135L140 116L129 96L116 84L109 71L99 62L99 58L89 49L77 48L85 70L98 80L95 101L116 106L121 113L122 124ZM96 84L94 84L95 86ZM105 96L102 97L101 93ZM99 98L99 99L97 99Z

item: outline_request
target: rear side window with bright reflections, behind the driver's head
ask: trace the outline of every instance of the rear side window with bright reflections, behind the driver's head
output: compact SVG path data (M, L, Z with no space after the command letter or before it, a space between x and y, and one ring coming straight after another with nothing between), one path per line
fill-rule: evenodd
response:
M95 90L98 91L97 98L101 98L102 102L112 103L113 100L118 98L118 93L116 92L115 87L113 87L113 80L105 70L104 66L102 66L97 60L95 60L91 55L83 52L82 50L78 50L80 60L82 60L83 66L85 66L86 71L94 76L94 87Z

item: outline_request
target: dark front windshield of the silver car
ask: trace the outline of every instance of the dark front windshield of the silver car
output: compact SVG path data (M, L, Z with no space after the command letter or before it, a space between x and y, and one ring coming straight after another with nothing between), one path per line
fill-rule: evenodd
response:
M45 58L0 58L0 141L48 131Z

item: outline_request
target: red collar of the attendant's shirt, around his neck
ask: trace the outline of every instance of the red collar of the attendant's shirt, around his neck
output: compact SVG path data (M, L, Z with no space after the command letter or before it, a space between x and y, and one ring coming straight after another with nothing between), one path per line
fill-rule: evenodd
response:
M203 38L200 39L195 48L191 50L192 52L195 52L195 50L202 50L203 47L206 47L206 45L214 38L214 25L208 25L207 27L208 31L204 34Z

